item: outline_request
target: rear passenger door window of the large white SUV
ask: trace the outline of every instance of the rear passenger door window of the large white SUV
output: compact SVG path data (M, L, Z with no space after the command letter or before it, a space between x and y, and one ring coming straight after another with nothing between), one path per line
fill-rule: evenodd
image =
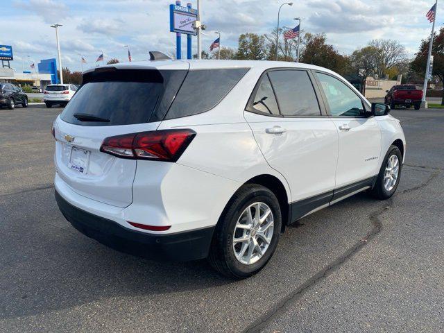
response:
M318 99L307 71L278 70L268 72L284 117L317 117L321 115Z

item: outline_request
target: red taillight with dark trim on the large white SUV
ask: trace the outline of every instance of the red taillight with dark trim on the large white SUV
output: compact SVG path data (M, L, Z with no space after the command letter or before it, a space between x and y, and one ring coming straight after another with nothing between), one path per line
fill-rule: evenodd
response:
M194 130L155 130L107 137L100 151L136 160L176 162L196 136Z

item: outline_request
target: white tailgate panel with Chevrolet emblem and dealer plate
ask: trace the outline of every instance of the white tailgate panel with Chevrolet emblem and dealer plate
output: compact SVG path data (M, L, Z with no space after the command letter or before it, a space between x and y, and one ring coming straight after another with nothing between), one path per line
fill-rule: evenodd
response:
M144 123L144 130L155 130L159 123ZM62 121L55 123L56 171L71 189L82 196L118 207L133 202L133 180L137 162L102 153L105 137L121 134L116 127L78 126ZM129 131L135 128L131 126Z

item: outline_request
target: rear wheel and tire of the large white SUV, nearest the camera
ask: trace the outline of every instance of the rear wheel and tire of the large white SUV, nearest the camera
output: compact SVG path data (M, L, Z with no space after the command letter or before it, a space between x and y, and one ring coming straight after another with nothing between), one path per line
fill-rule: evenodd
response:
M255 275L278 246L281 225L275 194L262 185L244 185L232 196L216 225L210 264L229 278Z

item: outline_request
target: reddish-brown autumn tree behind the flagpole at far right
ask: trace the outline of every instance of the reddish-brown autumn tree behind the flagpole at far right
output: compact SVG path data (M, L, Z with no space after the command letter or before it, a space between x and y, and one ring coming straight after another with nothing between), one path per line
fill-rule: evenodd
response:
M430 39L422 40L418 53L416 53L415 59L411 62L411 69L424 79L425 69L427 67L427 56L429 54ZM432 47L433 60L433 73L444 82L444 28L441 28L438 33L435 33ZM444 90L443 100L441 105L444 105Z

